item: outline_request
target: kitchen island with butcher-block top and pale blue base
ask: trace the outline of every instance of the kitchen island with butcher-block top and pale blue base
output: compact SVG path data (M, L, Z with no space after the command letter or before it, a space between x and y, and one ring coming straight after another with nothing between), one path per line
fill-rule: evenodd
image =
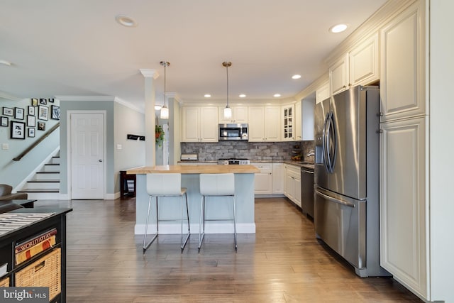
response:
M237 233L255 233L254 219L254 174L260 172L254 165L162 165L135 167L127 170L128 175L136 175L135 196L135 230L134 233L145 233L145 221L148 211L148 193L146 190L146 174L149 173L180 173L182 187L187 188L189 204L189 221L191 233L199 233L201 194L199 191L200 174L235 174L236 224ZM228 197L209 197L207 199L206 217L210 219L231 218L233 207ZM216 203L220 202L220 203ZM159 198L160 219L179 219L181 205L179 197ZM153 203L154 204L154 203ZM152 207L154 207L152 204ZM216 204L214 206L213 204ZM155 211L150 214L148 233L156 232ZM178 222L160 222L160 233L180 233ZM206 233L233 233L231 221L207 222Z

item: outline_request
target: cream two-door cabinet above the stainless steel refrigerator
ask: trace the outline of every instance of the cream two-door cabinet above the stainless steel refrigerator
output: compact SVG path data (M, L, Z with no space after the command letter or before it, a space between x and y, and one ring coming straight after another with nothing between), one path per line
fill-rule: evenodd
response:
M331 96L379 77L378 33L363 40L329 68ZM319 102L319 99L317 99Z

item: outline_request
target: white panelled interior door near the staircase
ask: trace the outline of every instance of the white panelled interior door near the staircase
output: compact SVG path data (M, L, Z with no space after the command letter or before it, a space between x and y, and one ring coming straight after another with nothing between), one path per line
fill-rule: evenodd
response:
M104 199L104 114L71 114L71 199Z

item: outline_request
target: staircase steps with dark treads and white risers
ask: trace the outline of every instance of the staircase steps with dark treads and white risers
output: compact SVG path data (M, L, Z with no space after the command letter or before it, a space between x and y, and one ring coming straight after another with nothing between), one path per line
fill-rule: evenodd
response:
M35 172L35 175L26 182L23 189L17 192L27 193L28 199L59 199L60 151L53 155L38 172Z

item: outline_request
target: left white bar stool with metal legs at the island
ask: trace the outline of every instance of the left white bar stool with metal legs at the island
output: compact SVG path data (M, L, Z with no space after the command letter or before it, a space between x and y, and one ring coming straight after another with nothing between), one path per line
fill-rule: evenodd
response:
M187 189L181 187L182 176L179 173L160 173L160 174L147 174L147 192L150 196L148 199L148 212L147 212L147 222L145 224L145 235L143 236L143 253L145 250L155 241L159 234L159 222L160 221L180 221L179 219L159 219L159 211L157 208L157 198L158 197L181 197L181 248L182 253L184 246L191 235L191 230L189 228L189 209L187 204ZM183 196L186 198L186 219L183 217ZM148 229L148 220L150 219L150 209L151 209L151 199L152 197L156 198L156 233L155 236L151 239L149 243L146 243L147 239L147 229ZM183 239L183 221L187 221L187 236Z

